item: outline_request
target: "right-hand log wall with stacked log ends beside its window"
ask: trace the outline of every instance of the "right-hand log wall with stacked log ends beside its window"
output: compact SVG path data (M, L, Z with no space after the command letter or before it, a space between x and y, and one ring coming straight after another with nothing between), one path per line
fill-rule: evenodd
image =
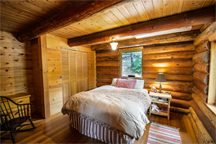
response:
M212 70L212 58L214 55L210 51L215 48L215 42L211 40L215 35L216 24L212 23L206 30L204 30L194 41L196 46L196 54L193 56L195 72L193 73L193 100L190 102L190 114L193 129L197 136L199 143L216 143L216 114L207 106L207 100L212 97L211 90L208 86L213 86L211 82L215 82L213 75L209 74ZM210 38L211 37L211 38ZM210 59L211 58L211 59ZM210 72L210 73L209 73ZM211 87L212 88L212 87ZM214 91L214 89L213 89ZM209 102L209 100L208 100ZM210 103L210 102L209 102ZM214 103L214 102L213 102Z

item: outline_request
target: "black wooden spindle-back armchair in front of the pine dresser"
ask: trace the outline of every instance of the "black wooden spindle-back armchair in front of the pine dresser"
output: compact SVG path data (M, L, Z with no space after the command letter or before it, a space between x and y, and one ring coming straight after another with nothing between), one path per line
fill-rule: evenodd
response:
M0 96L0 131L4 131L1 135L10 131L11 138L0 139L12 139L15 144L14 133L21 131L28 131L35 129L34 124L29 116L29 104L17 104L8 97ZM30 124L23 124L29 120ZM20 130L23 126L32 125L30 129Z

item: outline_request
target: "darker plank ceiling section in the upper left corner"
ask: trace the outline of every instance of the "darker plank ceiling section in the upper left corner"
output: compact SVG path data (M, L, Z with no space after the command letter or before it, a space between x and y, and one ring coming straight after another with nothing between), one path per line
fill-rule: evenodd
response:
M20 33L71 5L71 1L0 0L0 30Z

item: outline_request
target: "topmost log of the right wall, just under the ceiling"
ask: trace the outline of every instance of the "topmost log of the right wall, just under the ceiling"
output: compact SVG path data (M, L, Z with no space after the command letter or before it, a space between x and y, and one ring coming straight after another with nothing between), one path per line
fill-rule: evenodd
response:
M198 46L205 41L208 41L209 36L216 32L216 22L213 22L208 28L206 28L197 38L194 40L194 45Z

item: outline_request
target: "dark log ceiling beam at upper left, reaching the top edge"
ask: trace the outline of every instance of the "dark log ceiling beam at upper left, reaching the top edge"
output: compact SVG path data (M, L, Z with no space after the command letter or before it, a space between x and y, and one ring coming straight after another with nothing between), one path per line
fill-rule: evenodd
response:
M68 6L58 14L42 21L29 29L22 31L17 36L20 42L31 40L40 35L52 32L56 29L68 26L84 18L92 16L109 6L114 6L121 1L128 2L131 0L71 0L72 5Z

